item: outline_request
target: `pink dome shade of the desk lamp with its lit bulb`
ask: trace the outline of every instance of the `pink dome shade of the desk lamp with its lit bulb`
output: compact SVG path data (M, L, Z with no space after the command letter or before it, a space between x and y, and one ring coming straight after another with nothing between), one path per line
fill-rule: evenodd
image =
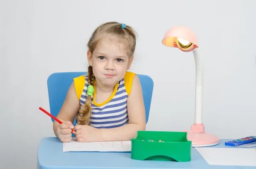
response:
M195 32L186 26L175 26L169 29L162 43L165 46L179 48L183 52L190 52L199 46Z

